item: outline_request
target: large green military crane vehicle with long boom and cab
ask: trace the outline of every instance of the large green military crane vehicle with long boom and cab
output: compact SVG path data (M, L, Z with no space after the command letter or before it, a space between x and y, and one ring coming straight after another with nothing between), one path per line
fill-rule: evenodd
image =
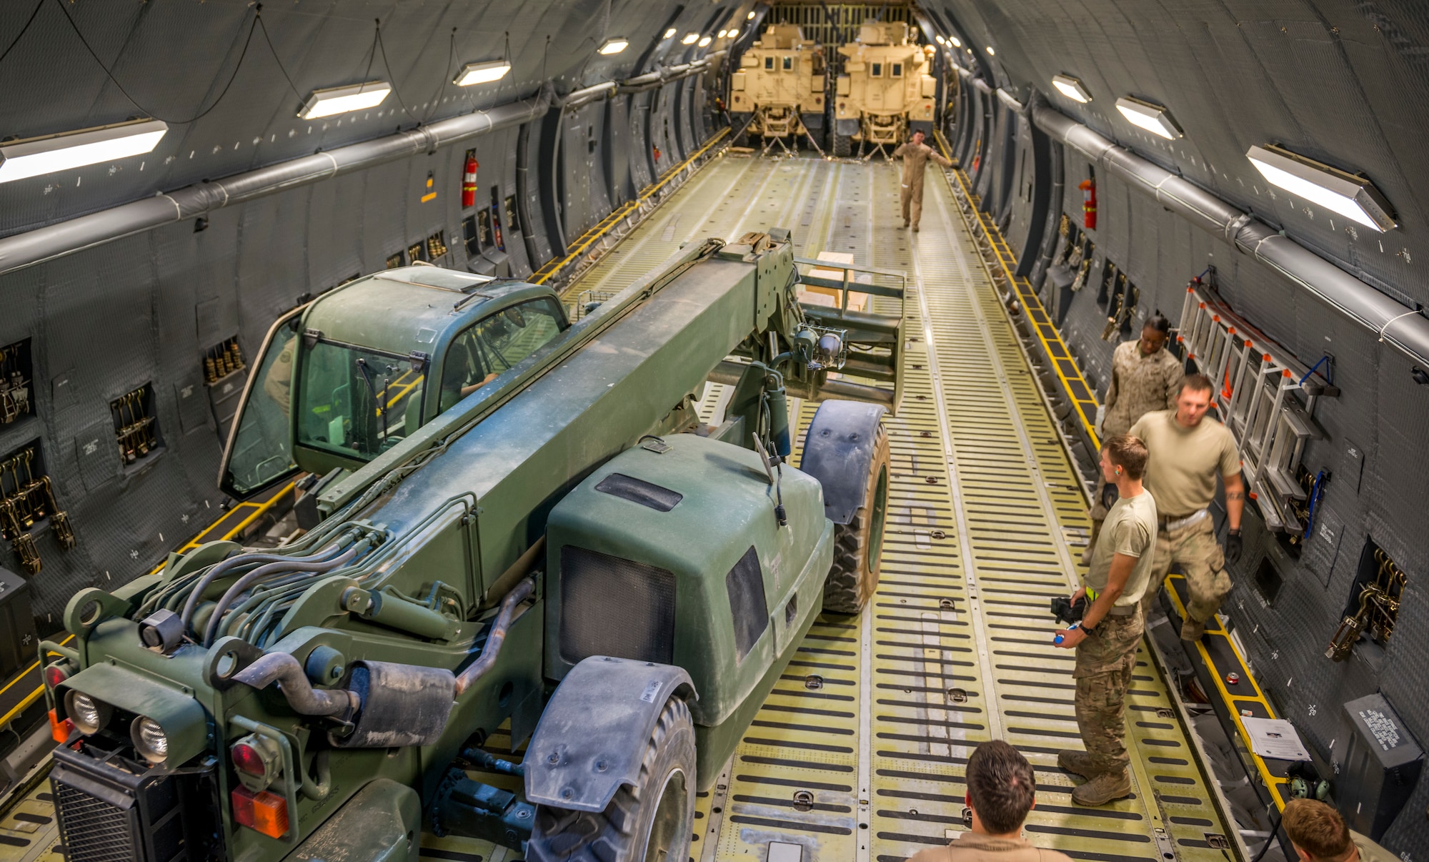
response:
M803 307L797 280L772 232L574 323L430 266L283 316L221 485L303 476L306 532L86 589L41 648L69 859L414 862L423 831L684 859L820 608L877 578L902 319ZM716 425L709 380L733 383ZM790 396L823 402L800 469ZM506 722L522 763L482 749Z

